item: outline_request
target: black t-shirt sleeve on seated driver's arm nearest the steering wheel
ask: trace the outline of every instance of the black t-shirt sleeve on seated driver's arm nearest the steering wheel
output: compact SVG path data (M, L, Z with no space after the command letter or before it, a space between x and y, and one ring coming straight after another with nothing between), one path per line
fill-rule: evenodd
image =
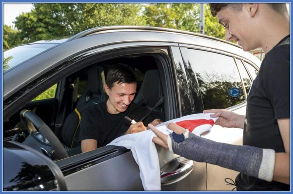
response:
M91 114L88 111L85 111L81 115L80 120L79 141L86 139L98 139Z

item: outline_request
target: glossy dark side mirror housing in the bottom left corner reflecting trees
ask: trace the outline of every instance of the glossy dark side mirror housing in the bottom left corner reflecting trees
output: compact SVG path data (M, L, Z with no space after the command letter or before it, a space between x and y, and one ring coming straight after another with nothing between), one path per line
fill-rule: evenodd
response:
M18 142L3 146L4 190L67 190L61 170L47 156Z

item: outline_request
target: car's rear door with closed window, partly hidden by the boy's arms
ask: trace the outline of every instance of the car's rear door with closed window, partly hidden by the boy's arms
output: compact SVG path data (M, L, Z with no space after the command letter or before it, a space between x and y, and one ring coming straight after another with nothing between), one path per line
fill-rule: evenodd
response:
M180 50L186 71L189 72L189 80L192 80L192 77L197 79L191 83L191 88L195 88L195 95L192 95L194 106L203 109L228 109L245 115L246 98L252 77L249 76L241 56L193 45L180 45ZM229 92L233 88L240 92L231 95ZM198 100L198 96L201 96L202 102ZM203 109L195 110L202 112ZM217 142L242 145L242 134L243 129L214 125L211 132L203 137ZM225 178L234 180L238 172L211 164L207 164L207 171L207 190L234 188L233 185L226 184Z

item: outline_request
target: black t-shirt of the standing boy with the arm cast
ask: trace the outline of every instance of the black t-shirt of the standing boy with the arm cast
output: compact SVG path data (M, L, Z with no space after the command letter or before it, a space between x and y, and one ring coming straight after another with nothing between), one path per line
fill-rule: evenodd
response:
M243 145L285 152L277 119L290 117L290 36L265 56L247 98ZM240 173L237 190L289 190L289 185L267 182Z

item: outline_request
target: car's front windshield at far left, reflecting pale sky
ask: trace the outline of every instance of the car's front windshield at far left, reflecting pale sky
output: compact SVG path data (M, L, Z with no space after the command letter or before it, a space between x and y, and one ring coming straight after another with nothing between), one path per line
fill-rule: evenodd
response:
M5 73L23 61L55 45L56 43L27 44L6 50L3 53L3 72Z

